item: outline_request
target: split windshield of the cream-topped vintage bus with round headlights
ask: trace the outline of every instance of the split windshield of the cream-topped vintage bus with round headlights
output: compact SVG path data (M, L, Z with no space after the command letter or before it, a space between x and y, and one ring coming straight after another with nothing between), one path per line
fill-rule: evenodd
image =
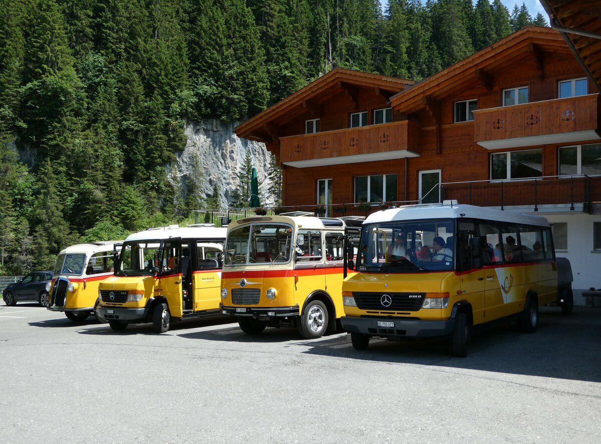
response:
M224 265L286 263L292 251L292 227L251 224L228 233Z

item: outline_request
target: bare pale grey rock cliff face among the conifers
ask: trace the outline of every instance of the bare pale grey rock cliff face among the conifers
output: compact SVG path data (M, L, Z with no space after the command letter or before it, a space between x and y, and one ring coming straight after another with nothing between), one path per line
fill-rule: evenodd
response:
M177 154L177 164L166 166L175 185L181 185L182 179L191 174L195 154L201 162L203 178L200 189L203 197L213 194L217 184L221 199L221 208L230 206L232 191L239 188L239 176L246 152L251 152L252 166L257 169L261 205L272 206L273 199L267 193L270 181L269 152L264 143L240 139L234 128L240 122L222 122L203 119L200 122L186 122L185 133L188 137L186 148ZM179 183L177 183L179 182ZM181 187L180 187L181 189Z

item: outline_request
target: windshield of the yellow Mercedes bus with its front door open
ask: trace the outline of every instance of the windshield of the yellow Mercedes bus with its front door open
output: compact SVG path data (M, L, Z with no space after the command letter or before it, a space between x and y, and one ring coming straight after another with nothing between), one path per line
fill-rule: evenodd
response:
M159 261L159 247L161 241L125 242L117 263L118 276L143 276L153 275Z

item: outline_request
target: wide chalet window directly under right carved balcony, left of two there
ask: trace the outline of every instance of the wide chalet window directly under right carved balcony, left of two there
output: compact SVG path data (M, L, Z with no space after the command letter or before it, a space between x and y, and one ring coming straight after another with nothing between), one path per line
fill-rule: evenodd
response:
M490 180L530 179L543 176L543 150L498 152L490 155Z

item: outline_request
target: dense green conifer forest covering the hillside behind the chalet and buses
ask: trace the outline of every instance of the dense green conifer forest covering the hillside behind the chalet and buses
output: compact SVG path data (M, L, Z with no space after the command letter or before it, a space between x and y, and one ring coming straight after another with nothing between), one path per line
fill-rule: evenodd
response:
M528 23L501 0L0 0L0 274L210 206L166 177L186 121L337 66L424 79Z

